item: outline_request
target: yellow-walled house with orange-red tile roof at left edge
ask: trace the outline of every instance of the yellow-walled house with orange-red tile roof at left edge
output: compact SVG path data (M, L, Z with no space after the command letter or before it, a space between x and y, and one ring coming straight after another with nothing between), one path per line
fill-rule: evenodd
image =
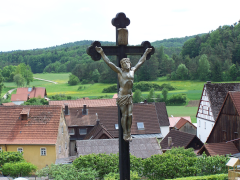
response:
M69 156L61 106L0 106L0 150L23 152L41 169Z

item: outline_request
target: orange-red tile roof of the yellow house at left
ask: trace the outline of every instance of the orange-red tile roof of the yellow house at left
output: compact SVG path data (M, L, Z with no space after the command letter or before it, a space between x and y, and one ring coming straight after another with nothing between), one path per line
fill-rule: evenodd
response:
M28 120L21 120L29 109ZM61 106L1 106L0 144L56 144Z

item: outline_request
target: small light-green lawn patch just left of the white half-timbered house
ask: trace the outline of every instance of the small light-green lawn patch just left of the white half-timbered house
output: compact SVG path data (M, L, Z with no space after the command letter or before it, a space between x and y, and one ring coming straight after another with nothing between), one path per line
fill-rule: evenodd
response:
M186 107L186 106L167 106L168 117L173 115L174 117L190 116L192 123L196 123L196 114L198 107Z

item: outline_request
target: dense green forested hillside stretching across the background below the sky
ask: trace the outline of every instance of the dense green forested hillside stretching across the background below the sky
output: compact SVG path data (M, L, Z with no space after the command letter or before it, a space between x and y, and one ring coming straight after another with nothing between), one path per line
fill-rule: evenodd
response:
M219 26L205 34L153 42L155 54L136 72L135 82L162 76L171 80L240 80L239 22ZM44 49L0 52L3 79L13 81L16 67L22 63L21 66L25 64L25 69L31 69L33 73L71 72L71 78L77 77L82 83L115 83L116 74L103 60L95 62L86 54L91 43L85 40ZM114 45L113 42L101 43ZM133 65L139 58L130 56ZM116 57L109 59L116 63Z

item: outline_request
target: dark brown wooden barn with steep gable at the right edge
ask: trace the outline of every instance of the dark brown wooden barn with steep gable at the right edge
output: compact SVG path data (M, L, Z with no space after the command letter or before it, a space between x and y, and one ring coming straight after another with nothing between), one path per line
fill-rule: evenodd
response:
M229 91L207 143L233 142L240 151L240 92Z

